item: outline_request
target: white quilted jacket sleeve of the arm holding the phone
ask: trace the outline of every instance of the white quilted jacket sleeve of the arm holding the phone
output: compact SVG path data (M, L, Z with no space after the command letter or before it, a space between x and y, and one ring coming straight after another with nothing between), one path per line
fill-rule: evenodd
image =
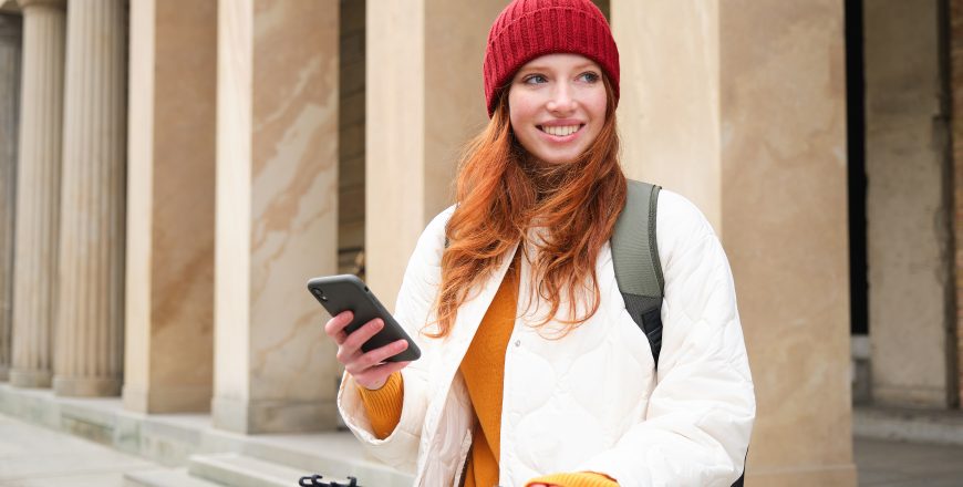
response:
M402 370L404 398L397 427L384 439L375 436L350 374L344 374L338 393L339 411L354 436L372 455L402 472L414 473L417 465L422 424L429 397L429 371L436 356L432 346L437 343L436 340L426 340L421 330L429 320L441 282L445 225L453 210L454 207L443 211L425 228L408 260L398 291L394 318L417 343L422 356Z

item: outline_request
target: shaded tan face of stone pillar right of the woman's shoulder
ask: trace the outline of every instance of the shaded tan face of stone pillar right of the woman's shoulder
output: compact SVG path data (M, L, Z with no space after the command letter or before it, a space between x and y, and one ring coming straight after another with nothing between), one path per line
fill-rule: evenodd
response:
M724 6L722 236L758 398L748 479L853 485L842 1Z

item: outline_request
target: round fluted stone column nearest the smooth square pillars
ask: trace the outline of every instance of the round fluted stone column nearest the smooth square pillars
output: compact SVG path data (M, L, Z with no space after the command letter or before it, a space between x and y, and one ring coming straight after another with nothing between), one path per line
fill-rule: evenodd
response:
M71 0L53 388L121 393L126 22L123 0Z

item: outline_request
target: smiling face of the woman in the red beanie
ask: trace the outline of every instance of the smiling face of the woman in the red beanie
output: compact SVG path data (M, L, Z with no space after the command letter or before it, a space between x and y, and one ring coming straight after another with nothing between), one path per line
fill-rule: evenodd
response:
M511 129L548 164L576 160L605 121L602 70L578 54L548 54L521 66L508 89Z

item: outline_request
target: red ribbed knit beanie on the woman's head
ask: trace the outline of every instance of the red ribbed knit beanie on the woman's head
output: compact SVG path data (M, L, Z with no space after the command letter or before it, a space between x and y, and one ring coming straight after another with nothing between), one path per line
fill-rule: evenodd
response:
M589 0L514 0L491 24L485 49L488 116L505 85L525 63L559 52L599 63L619 104L619 49L604 15Z

